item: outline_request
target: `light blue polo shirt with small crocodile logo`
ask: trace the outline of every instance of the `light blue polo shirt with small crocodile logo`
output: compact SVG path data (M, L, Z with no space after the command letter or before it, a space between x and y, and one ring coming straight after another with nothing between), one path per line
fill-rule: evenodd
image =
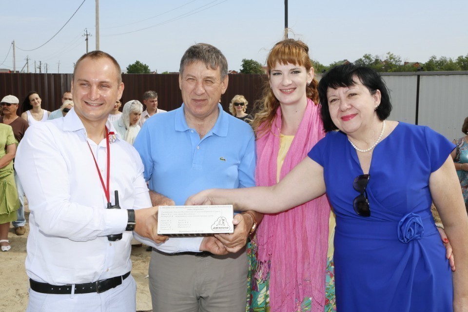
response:
M187 124L184 104L143 124L134 146L151 190L183 205L190 195L206 189L255 185L254 131L220 104L218 109L214 127L201 139Z

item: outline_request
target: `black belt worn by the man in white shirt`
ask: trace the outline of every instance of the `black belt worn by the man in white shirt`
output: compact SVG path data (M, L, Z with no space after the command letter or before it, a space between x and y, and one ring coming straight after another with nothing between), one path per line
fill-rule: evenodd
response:
M130 272L121 276L102 279L93 283L75 284L75 293L90 293L90 292L106 292L111 288L117 287L122 284L122 281L130 276ZM71 294L73 285L51 285L47 283L36 282L29 279L29 285L35 292L53 293L53 294Z

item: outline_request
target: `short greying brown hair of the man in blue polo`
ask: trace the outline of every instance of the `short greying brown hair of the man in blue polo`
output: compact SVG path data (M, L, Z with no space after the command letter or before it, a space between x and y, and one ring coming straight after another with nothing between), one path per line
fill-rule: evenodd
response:
M221 79L228 76L228 61L222 52L208 43L197 43L185 51L180 60L179 75L182 75L186 66L200 61L206 68L216 70L219 68Z

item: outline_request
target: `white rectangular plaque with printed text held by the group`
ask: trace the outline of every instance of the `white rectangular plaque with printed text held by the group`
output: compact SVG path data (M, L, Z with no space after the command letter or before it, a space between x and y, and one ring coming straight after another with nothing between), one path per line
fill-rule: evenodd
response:
M233 205L159 206L157 234L206 236L233 233Z

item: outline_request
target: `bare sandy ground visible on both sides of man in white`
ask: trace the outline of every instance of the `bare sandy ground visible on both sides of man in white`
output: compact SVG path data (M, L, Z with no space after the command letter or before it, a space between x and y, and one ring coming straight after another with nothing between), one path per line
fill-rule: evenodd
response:
M28 305L28 277L24 269L26 239L29 234L29 210L25 209L26 234L17 236L10 226L8 239L11 249L0 252L0 312L24 312ZM137 311L152 311L148 289L148 265L151 253L146 246L132 247L132 275L137 281Z

